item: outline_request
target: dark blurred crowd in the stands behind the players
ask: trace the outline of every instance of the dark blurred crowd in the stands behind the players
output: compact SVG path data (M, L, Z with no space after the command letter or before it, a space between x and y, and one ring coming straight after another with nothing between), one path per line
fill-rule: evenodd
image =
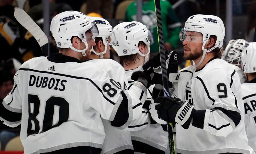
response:
M42 53L34 37L13 16L15 9L22 8L43 29L44 24L50 25L44 22L43 13L46 9L43 1L48 3L48 0L0 0L0 102L11 91L13 76L23 62L33 57L47 56L47 53ZM138 2L142 3L139 10ZM50 21L56 14L67 10L103 17L113 27L121 22L140 20L151 31L155 40L150 46L150 54L159 52L154 0L49 0L48 7ZM229 16L228 8L231 9ZM256 25L256 0L161 0L161 10L164 46L165 49L176 50L179 54L180 68L190 65L182 59L184 49L179 33L191 15L216 15L224 24L226 23L226 31L231 30L231 33L228 33L229 38L224 38L223 49L230 39L245 39L252 42ZM141 15L140 19L137 19L137 13ZM232 20L229 20L230 17ZM228 20L231 24L228 24ZM50 29L45 29L44 32L46 31L49 33ZM51 35L48 39L48 55L52 56L58 53L58 49ZM113 49L111 51L111 58L119 62L116 52ZM19 129L7 128L0 123L1 150L5 150L5 145L11 138L19 135Z

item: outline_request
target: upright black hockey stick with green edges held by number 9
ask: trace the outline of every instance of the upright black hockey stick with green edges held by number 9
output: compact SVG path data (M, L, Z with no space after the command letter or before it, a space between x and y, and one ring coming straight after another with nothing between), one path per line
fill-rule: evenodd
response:
M158 46L159 46L159 52L160 52L160 58L161 58L164 96L169 97L170 94L169 94L168 76L167 76L166 59L165 59L166 53L164 50L164 36L163 36L163 26L162 26L162 17L161 17L161 6L160 6L160 0L154 0L154 1L155 1L156 27L157 27L157 35L158 35ZM170 154L175 154L173 127L171 122L168 122L168 123L167 123L167 128L168 128Z

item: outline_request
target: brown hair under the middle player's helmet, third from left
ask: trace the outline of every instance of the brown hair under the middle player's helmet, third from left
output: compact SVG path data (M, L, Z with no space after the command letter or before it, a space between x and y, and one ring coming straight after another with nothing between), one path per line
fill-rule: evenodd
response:
M96 42L96 41L95 41ZM146 46L146 43L144 43L143 41L140 41L139 43L138 43L138 47L140 46L140 45L142 45L143 47L145 47ZM120 62L120 64L122 65L122 66L124 66L124 64L126 65L126 66L130 66L130 65L133 65L133 64L135 64L137 61L136 61L136 57L138 58L138 59L140 59L139 58L139 53L136 53L136 54L130 54L130 55L127 55L127 56L120 56L119 57L119 62Z

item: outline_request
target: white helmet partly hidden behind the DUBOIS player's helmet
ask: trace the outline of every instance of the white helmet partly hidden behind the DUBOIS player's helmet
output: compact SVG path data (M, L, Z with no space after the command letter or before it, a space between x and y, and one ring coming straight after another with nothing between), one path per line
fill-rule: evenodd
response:
M97 37L101 37L103 44L105 45L105 50L103 52L97 53L93 48L92 48L92 52L100 56L100 59L103 59L103 54L107 52L108 45L111 45L112 26L109 24L109 22L106 19L103 19L101 17L90 17L90 18L91 18L91 21L94 22L98 27L99 35Z

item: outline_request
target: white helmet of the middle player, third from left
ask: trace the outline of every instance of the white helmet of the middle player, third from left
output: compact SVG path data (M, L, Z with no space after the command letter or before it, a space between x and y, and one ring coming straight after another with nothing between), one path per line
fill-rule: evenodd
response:
M144 24L137 21L123 22L113 28L112 47L118 56L127 56L139 53L148 61L150 45L154 43L153 36ZM143 41L148 46L148 53L142 54L139 50L139 42ZM144 63L145 63L144 62Z

